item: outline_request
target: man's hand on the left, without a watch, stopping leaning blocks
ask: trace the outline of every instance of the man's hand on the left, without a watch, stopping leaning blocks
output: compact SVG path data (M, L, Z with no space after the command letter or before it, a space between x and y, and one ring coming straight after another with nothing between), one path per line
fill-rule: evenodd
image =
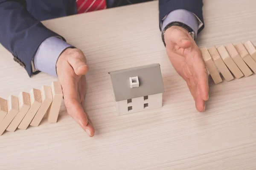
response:
M58 58L56 68L67 113L83 128L88 136L94 136L94 127L83 108L86 91L85 74L88 71L83 52L76 48L67 48Z

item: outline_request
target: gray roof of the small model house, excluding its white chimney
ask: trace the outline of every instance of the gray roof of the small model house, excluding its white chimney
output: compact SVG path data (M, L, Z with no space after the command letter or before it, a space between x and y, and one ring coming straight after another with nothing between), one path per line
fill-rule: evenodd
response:
M164 92L160 64L143 65L109 74L116 102ZM140 86L130 88L130 77L138 77Z

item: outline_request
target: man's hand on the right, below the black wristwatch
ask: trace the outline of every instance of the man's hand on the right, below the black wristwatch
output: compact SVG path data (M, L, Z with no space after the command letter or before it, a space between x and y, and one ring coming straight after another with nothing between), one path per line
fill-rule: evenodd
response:
M205 110L209 98L208 74L201 51L188 31L172 26L164 34L168 57L177 73L186 81L198 111Z

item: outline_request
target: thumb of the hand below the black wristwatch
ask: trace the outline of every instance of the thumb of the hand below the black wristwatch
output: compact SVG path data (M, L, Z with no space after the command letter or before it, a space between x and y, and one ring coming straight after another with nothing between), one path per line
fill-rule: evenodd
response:
M179 26L172 26L166 30L165 39L166 44L171 42L178 45L180 48L189 48L192 45L192 37L185 28Z

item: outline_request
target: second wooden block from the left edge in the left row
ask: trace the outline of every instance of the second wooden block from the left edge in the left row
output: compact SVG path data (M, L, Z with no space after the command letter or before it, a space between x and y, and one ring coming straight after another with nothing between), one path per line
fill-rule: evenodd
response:
M16 96L10 96L7 99L7 109L8 113L6 114L5 118L0 124L0 135L3 134L3 132L6 130L8 125L12 122L12 120L15 118L19 111L19 102L18 97Z

